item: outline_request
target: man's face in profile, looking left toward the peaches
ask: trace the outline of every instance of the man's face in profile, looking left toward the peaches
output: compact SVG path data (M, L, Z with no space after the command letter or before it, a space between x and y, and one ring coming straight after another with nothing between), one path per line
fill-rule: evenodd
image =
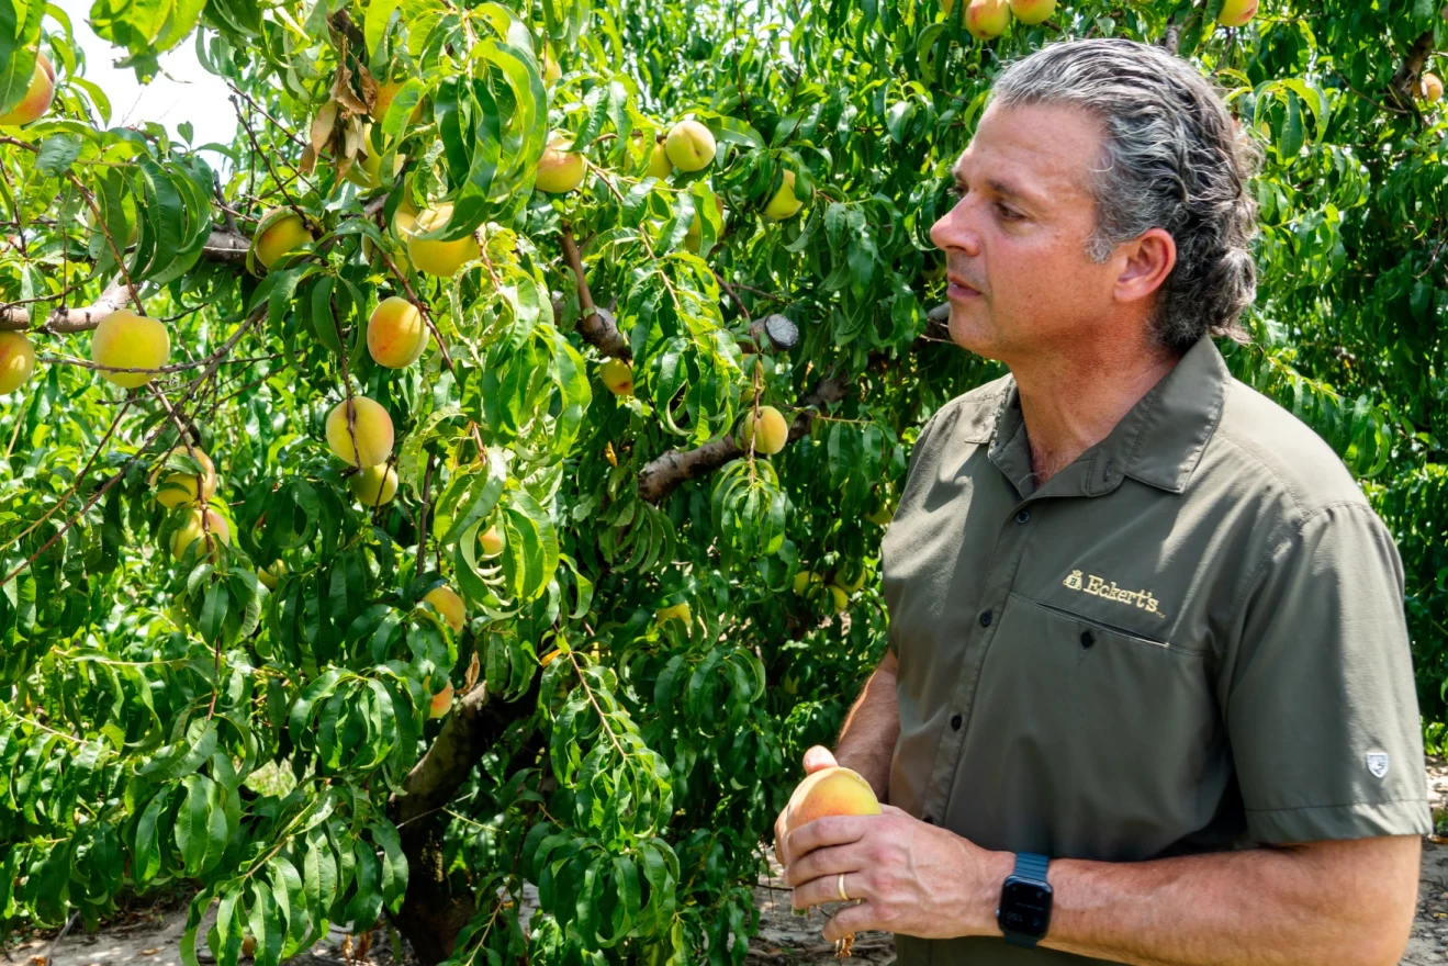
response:
M1099 129L1082 110L986 110L956 162L961 197L930 230L946 252L957 345L1014 364L1111 319L1122 266L1086 256L1099 156Z

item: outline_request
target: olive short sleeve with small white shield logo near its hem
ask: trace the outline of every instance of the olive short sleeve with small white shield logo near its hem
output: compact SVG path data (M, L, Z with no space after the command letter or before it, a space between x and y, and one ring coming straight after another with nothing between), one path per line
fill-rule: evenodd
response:
M1432 831L1403 568L1367 504L1313 511L1251 575L1224 718L1260 843Z

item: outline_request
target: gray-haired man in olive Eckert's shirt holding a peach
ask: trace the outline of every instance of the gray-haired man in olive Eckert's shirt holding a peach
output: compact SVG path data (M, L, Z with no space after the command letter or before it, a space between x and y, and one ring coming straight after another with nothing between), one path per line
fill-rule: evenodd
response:
M827 940L893 931L899 966L1400 959L1431 831L1402 565L1212 340L1255 294L1253 161L1156 48L1061 43L996 83L933 239L953 340L1011 375L915 443L889 652L805 756L885 814L776 824L796 908L857 901Z

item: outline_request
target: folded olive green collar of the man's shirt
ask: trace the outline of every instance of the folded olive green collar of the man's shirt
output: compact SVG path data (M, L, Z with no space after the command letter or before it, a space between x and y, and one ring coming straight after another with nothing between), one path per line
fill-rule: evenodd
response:
M1203 336L1100 440L1051 476L1056 495L1099 495L1122 476L1182 492L1222 419L1231 372L1211 336ZM996 416L990 459L1025 495L1031 494L1031 449L1015 379ZM1060 482L1057 482L1060 481Z

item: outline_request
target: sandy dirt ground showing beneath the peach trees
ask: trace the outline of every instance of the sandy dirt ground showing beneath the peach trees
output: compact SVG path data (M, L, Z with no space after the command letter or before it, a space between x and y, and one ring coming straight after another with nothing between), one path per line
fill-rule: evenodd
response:
M1428 789L1434 817L1439 827L1448 826L1448 762L1428 759ZM789 908L789 889L779 878L760 878L754 888L754 905L760 914L760 933L750 941L749 966L799 966L834 962L834 949L820 934L834 907L815 910L809 917L795 915ZM531 886L524 895L536 901ZM214 907L213 907L214 910ZM209 924L203 924L201 936ZM94 936L77 928L56 941L55 934L29 936L0 949L0 965L13 966L181 966L178 954L185 930L185 905L158 902L146 910L132 910L116 923L104 925ZM346 927L332 933L308 953L292 960L292 966L358 966L358 949ZM860 933L854 941L857 966L889 966L895 962L895 947L888 933ZM46 962L46 957L51 957ZM201 943L198 957L211 963ZM369 937L365 963L369 966L416 966L411 950L400 944L390 930L375 930ZM1448 839L1423 840L1423 865L1418 892L1418 917L1407 953L1400 966L1448 965Z

